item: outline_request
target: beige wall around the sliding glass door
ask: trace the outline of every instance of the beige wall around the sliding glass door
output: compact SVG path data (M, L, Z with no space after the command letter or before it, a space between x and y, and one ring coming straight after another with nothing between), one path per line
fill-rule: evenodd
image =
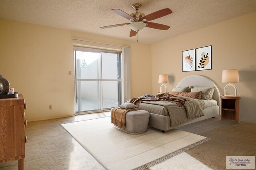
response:
M74 114L74 77L68 75L74 70L72 38L130 46L131 96L152 90L148 44L5 19L0 25L0 74L23 94L28 121Z

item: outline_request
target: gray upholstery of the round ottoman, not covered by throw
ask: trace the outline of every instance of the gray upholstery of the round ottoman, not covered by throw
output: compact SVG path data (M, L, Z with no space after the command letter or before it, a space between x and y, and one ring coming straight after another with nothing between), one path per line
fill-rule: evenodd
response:
M150 113L144 110L127 112L125 115L126 125L124 130L136 134L145 132L148 128L149 116Z

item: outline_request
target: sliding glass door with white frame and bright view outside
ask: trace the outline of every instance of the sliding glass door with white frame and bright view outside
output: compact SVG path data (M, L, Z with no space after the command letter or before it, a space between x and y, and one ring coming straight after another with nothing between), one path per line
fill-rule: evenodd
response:
M104 111L121 104L121 53L74 47L76 112Z

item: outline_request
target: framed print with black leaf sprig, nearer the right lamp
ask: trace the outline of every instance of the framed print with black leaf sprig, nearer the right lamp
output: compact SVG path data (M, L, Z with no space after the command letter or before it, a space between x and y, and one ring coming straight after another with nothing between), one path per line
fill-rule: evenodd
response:
M212 69L212 45L196 49L196 70Z

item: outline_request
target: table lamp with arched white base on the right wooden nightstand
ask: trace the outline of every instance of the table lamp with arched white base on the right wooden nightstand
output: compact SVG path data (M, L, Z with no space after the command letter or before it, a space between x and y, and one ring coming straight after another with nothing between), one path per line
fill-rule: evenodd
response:
M222 83L228 83L224 87L224 96L226 95L226 89L228 86L232 86L235 89L235 95L237 96L237 89L236 86L232 83L238 83L239 82L239 75L238 75L238 70L223 70L222 71ZM230 95L233 96L233 95Z

